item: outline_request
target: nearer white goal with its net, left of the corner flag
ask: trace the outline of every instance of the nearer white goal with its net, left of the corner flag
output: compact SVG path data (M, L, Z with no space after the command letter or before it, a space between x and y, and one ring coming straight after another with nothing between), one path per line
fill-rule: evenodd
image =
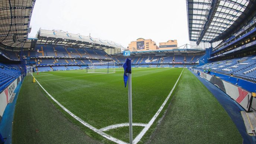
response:
M114 61L88 64L87 73L115 73L116 64Z

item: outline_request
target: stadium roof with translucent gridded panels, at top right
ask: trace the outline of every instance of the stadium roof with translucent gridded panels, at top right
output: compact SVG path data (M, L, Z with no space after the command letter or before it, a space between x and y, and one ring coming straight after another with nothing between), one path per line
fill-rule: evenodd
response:
M189 40L215 42L255 9L255 0L186 0Z

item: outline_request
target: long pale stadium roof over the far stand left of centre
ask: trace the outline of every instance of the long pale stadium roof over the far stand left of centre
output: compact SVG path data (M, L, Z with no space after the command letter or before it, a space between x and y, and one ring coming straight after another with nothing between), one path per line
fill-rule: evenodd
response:
M91 36L82 36L80 34L72 34L61 30L44 30L39 29L37 34L38 44L59 44L59 45L76 45L91 48L120 48L122 45L112 41L92 38Z

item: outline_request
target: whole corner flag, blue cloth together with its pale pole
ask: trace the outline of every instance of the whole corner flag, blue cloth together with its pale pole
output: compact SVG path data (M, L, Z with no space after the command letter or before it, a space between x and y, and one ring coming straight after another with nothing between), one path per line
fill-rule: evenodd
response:
M131 59L127 58L123 65L124 68L124 86L126 87L128 81L128 107L129 107L129 132L130 144L132 144L132 68Z

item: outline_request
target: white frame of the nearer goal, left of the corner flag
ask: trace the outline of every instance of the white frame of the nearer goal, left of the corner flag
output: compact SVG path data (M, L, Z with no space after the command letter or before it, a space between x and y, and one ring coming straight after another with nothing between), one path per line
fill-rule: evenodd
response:
M107 68L95 68L95 65L105 65ZM113 65L113 71L109 71L109 66ZM93 71L88 71L89 66L92 67ZM104 71L95 71L95 69L107 69L106 72ZM101 73L101 74L107 74L107 73L116 73L116 63L115 61L108 61L108 62L99 62L99 63L92 63L88 64L88 67L86 68L87 73Z

